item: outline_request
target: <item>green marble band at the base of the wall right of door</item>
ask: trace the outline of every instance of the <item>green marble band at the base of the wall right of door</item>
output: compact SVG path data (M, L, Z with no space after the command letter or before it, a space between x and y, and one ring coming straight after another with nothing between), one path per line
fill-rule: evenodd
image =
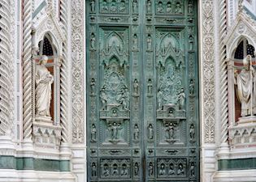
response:
M256 158L221 159L218 161L219 171L256 169Z

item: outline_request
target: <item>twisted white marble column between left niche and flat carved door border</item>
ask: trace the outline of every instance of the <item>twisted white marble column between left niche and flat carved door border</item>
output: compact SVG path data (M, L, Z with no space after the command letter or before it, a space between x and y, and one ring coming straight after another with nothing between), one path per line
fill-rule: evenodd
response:
M60 1L60 22L63 26L63 60L60 67L60 125L62 127L62 143L68 141L67 120L67 0Z

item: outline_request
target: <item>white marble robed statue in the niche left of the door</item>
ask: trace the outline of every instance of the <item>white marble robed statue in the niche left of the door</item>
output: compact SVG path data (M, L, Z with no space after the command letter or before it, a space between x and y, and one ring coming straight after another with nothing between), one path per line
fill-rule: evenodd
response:
M48 57L42 56L36 66L36 115L50 117L51 84L53 75L46 68Z

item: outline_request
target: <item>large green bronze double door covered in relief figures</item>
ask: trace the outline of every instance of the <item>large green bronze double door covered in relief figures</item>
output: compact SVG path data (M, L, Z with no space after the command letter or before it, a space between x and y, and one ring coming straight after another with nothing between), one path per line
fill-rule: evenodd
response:
M197 2L86 11L88 181L199 181Z

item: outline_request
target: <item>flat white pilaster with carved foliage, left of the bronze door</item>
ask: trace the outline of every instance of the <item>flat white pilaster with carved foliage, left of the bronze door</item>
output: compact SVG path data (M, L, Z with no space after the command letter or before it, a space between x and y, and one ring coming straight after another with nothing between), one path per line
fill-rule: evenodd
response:
M72 142L85 142L84 0L72 0Z

